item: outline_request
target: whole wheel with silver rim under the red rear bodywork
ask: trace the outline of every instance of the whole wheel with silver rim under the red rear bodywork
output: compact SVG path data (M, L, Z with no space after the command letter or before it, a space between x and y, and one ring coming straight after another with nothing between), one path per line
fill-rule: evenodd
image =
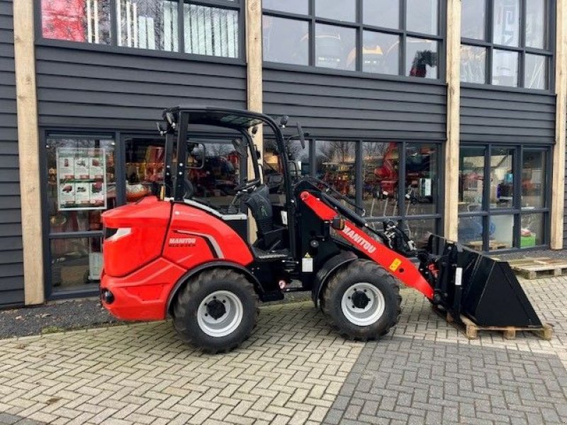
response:
M174 328L184 341L208 353L230 351L250 336L258 319L254 285L227 268L203 271L177 295Z

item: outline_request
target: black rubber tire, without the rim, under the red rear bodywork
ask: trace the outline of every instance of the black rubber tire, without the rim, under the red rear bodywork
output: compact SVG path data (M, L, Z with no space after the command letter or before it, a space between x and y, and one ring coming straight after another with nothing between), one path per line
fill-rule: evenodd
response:
M225 336L207 334L198 322L201 302L216 291L228 291L242 303L240 323ZM240 273L215 268L203 271L187 282L177 294L172 315L174 328L183 341L206 353L220 353L236 348L250 336L258 322L258 314L254 285Z

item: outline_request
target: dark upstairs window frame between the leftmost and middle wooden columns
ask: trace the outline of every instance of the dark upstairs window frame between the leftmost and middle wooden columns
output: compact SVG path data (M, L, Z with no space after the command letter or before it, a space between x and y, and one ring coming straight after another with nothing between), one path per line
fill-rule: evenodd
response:
M42 21L42 1L35 1L34 21L35 21L35 44L45 47L66 47L76 50L88 50L96 52L119 53L120 55L134 55L147 57L165 57L180 60L196 60L200 62L216 62L225 64L246 64L246 17L245 17L245 1L246 0L172 0L177 4L177 17L179 25L177 26L177 36L179 51L169 52L166 50L151 50L140 47L128 47L118 45L118 16L116 14L116 6L120 0L109 0L111 8L110 25L111 25L111 42L108 45L95 44L91 42L77 42L70 40L57 40L55 38L43 37L43 21ZM225 8L238 12L238 57L222 57L213 55L197 55L195 53L185 52L185 26L184 23L184 4L195 4L197 6L208 6L216 8Z

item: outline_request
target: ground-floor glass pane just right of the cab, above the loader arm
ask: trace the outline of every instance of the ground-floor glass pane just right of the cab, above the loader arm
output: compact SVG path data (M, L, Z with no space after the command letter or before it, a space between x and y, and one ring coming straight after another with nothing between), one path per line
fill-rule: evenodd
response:
M343 196L355 196L354 142L315 142L315 173Z

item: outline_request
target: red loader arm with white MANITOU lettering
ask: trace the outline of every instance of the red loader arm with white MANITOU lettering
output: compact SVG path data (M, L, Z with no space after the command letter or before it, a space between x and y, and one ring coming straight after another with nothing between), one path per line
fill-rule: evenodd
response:
M342 214L331 208L323 200L317 198L308 191L301 192L301 200L308 206L315 215L321 220L332 221L335 217ZM344 228L337 230L340 237L347 240L356 249L369 259L376 261L385 268L392 276L400 280L407 286L415 288L430 300L433 298L434 290L430 283L425 280L412 261L405 256L389 249L386 245L378 242L363 229L355 225L351 220L344 220Z

